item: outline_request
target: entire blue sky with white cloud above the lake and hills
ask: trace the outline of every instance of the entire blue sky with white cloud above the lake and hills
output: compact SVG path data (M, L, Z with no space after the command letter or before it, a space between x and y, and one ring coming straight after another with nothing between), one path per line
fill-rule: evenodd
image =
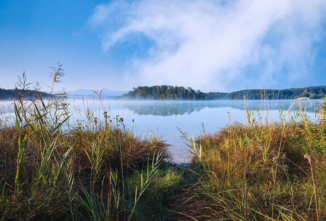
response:
M326 85L325 1L0 1L0 87ZM44 85L43 90L47 90Z

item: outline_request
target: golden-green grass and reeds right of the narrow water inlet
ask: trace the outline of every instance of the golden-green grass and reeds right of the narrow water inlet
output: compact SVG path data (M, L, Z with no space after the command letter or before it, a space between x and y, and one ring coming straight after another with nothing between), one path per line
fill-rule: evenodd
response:
M180 220L325 220L325 104L315 122L280 110L278 123L248 114L196 139L183 133L199 169L179 193Z

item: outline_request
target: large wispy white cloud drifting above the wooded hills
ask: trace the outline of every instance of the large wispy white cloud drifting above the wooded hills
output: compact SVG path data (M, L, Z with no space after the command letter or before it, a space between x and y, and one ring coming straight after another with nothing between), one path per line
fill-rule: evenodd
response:
M135 86L233 91L308 77L325 11L323 0L113 1L98 5L88 24L102 31L104 50L148 47L126 69Z

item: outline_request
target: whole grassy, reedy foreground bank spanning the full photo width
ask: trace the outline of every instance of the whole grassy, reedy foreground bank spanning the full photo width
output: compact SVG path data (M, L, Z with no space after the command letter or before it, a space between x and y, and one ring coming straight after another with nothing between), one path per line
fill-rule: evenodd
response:
M326 219L325 103L315 121L300 109L291 119L280 109L278 123L248 110L244 124L182 133L186 166L119 116L99 121L87 108L71 126L63 94L18 97L15 124L0 122L2 220Z

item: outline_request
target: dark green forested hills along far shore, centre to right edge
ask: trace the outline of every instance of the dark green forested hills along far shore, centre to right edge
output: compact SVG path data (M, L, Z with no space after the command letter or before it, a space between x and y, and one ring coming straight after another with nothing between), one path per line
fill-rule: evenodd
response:
M309 97L319 99L325 97L326 86L291 88L283 90L239 90L231 93L209 92L204 93L200 90L193 90L190 87L177 87L170 85L143 86L130 90L127 94L118 96L123 99L149 99L149 100L242 100L246 99L297 99Z

